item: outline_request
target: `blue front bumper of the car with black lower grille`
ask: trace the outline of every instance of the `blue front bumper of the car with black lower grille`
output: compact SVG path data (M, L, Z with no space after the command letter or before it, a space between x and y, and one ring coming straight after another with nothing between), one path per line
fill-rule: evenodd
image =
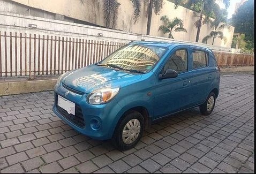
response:
M67 95L65 96L65 94ZM76 104L76 118L73 115L70 115L72 118L69 118L67 112L67 115L65 115L63 110L60 110L57 105L58 95ZM113 123L117 123L117 120L119 120L120 116L117 114L121 111L121 107L116 100L100 105L88 104L86 101L87 95L69 90L60 83L54 91L55 104L52 110L59 118L88 137L97 140L111 139L116 127L116 124ZM79 109L80 111L78 111ZM95 120L99 123L100 128L98 130L93 127Z

